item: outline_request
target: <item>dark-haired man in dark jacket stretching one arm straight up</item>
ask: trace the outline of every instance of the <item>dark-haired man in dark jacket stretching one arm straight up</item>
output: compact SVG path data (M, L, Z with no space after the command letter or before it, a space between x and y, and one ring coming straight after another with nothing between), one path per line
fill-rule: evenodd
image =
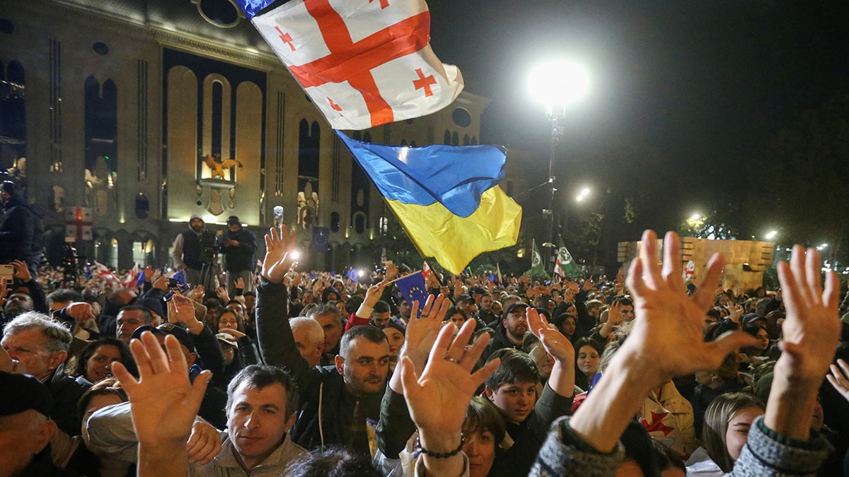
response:
M301 357L292 336L283 284L295 248L283 229L266 240L262 282L256 295L256 331L266 364L285 368L301 390L301 412L292 428L292 439L306 449L329 445L350 446L366 454L367 419L380 418L389 343L380 329L351 328L342 337L335 366L312 367Z

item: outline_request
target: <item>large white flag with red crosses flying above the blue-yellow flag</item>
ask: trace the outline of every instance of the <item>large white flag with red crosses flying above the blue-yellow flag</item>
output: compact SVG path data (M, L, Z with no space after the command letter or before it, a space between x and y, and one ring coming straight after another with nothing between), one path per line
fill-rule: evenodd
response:
M292 0L252 21L334 129L429 115L463 90L430 49L424 0Z

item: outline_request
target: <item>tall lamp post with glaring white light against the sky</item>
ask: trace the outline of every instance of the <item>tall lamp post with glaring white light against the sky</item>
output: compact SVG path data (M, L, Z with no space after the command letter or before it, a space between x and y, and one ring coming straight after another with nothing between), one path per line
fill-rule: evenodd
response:
M545 242L554 242L554 154L557 143L563 135L560 121L566 112L566 106L575 103L587 93L589 80L587 71L580 65L566 61L554 61L537 66L531 70L529 81L531 96L537 102L545 105L545 115L548 118L551 133L551 144L548 152L548 209L543 209L543 216L548 216L548 236ZM544 263L548 270L551 261L551 248L545 250Z

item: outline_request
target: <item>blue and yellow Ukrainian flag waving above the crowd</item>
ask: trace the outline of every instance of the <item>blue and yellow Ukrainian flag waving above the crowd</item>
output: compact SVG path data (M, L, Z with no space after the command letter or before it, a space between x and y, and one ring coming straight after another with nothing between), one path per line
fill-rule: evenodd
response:
M503 148L408 148L336 134L422 256L458 274L475 256L516 243L522 209L498 187L507 156Z

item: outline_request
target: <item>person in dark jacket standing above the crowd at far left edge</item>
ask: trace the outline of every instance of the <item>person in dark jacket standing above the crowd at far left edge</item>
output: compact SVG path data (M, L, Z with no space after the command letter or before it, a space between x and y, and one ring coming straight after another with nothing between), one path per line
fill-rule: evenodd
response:
M32 212L12 181L0 184L3 219L0 219L0 263L32 261Z

